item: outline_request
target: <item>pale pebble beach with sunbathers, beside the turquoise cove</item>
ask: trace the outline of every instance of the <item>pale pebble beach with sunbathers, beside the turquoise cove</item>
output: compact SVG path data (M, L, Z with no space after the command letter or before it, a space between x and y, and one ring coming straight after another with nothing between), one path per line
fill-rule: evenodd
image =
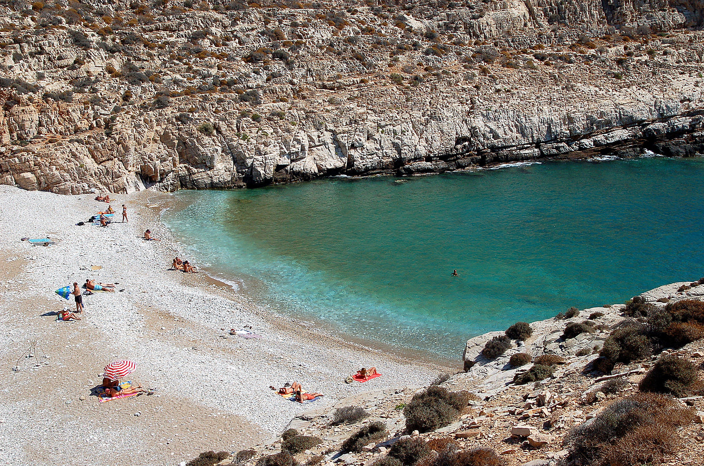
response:
M143 207L168 202L165 195L118 195L113 206L127 204L130 223L75 226L106 207L93 198L0 186L0 309L8 317L0 321L0 465L175 465L268 439L309 407L285 401L271 384L300 380L326 394L323 406L368 389L425 384L443 369L272 316L203 273L167 271L178 245ZM164 241L142 240L147 226ZM46 235L56 245L20 241ZM54 290L88 277L125 291L84 297L81 322L43 315L73 306ZM220 337L242 325L264 338ZM32 342L41 350L13 372ZM157 394L98 403L89 389L115 358L136 361L132 379ZM384 377L341 382L370 364Z

